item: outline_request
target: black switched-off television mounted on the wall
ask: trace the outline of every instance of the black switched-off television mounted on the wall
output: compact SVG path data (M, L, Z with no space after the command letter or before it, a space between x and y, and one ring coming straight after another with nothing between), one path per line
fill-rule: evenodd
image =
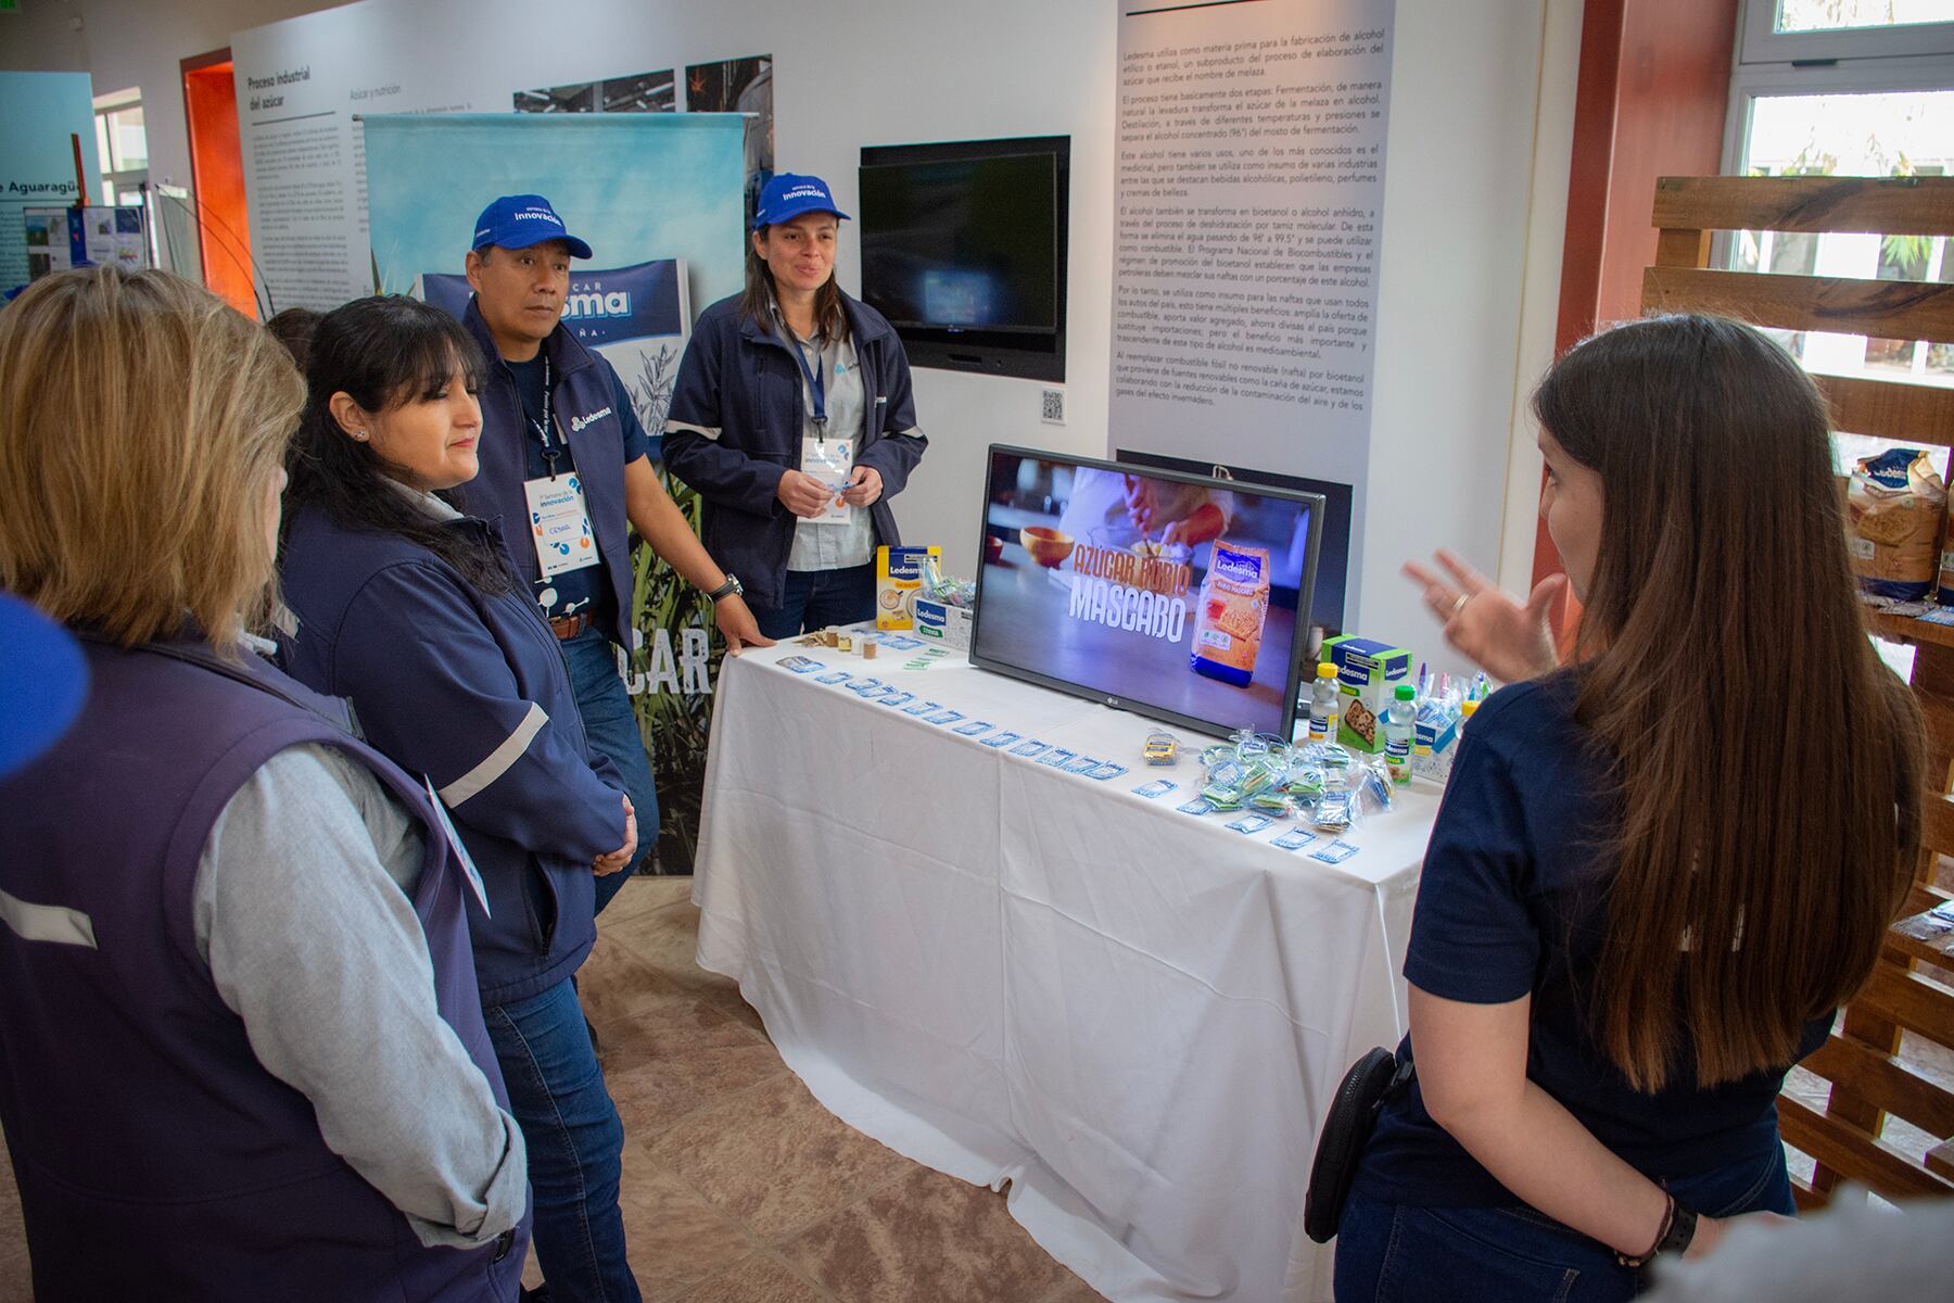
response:
M862 150L862 299L911 365L1065 379L1071 137Z

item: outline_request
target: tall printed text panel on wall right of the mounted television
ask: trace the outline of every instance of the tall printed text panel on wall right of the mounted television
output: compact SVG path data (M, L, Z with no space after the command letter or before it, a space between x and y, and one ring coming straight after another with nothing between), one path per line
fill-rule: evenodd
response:
M1393 0L1120 0L1110 451L1352 484Z

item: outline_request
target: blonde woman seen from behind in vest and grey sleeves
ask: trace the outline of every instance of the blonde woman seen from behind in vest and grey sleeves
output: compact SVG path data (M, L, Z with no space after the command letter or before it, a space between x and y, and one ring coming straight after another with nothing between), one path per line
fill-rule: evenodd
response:
M305 385L160 272L0 311L0 586L90 697L0 781L0 1123L41 1303L514 1301L522 1133L420 785L250 651Z

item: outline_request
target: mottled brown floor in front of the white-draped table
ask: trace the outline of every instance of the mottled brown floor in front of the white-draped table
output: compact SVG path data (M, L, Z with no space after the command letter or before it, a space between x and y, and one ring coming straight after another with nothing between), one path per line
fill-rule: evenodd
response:
M633 879L578 988L625 1123L623 1219L649 1303L1090 1303L1004 1198L844 1127L733 983L692 963L692 879ZM530 1283L537 1274L531 1264ZM0 1303L27 1248L0 1158Z

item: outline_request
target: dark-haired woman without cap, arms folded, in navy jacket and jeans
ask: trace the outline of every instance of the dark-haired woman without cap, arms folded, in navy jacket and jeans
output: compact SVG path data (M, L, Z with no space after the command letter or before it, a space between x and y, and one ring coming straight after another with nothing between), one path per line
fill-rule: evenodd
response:
M637 830L500 531L457 508L477 471L481 371L461 322L414 299L358 299L319 322L287 490L281 649L451 811L481 871L475 967L530 1145L549 1297L629 1303L623 1125L573 975L596 940L594 875L631 862Z

